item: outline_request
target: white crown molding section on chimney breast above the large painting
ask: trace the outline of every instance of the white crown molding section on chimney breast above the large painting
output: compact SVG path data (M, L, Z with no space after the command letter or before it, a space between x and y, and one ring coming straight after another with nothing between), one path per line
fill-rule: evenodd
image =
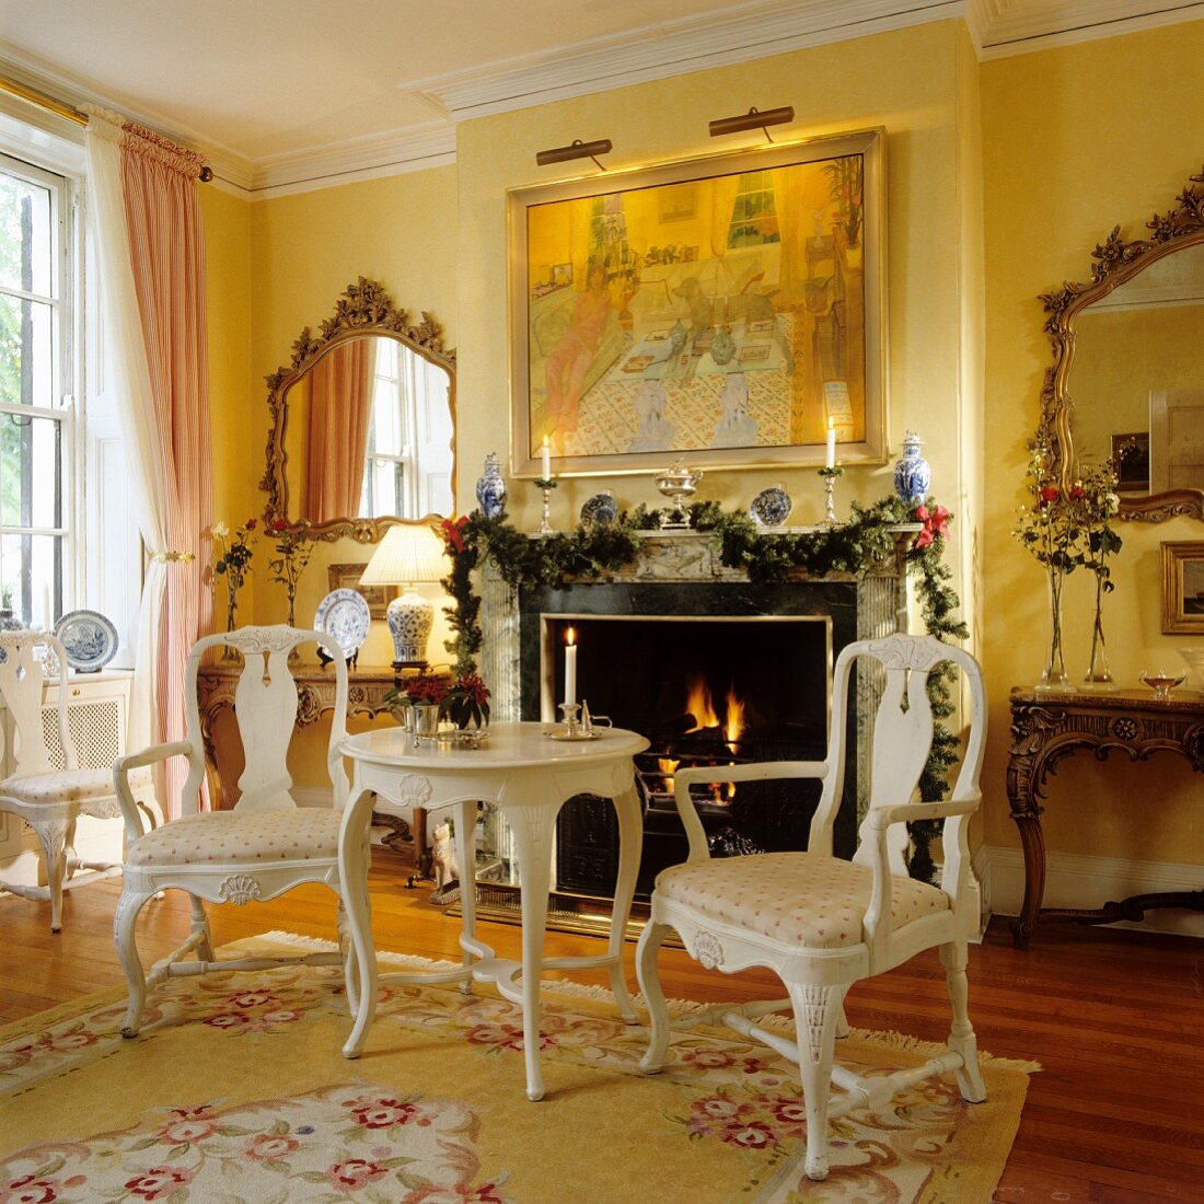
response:
M454 120L958 17L963 0L749 0L483 67L399 84Z

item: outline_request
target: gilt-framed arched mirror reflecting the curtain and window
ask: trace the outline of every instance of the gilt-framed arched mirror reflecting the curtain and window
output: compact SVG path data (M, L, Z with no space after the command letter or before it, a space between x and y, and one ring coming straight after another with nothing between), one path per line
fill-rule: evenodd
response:
M373 543L399 519L455 509L455 353L362 276L267 377L265 517Z

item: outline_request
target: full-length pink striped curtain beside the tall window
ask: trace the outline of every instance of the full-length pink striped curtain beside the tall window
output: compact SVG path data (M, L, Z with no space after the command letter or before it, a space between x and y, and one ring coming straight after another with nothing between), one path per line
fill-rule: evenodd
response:
M170 549L163 556L154 736L178 740L185 736L184 666L212 612L208 590L201 588L213 509L205 238L196 199L203 160L132 122L122 129L130 261L150 371L155 430L149 433L158 444L157 492ZM167 763L166 801L172 807L185 768L178 757Z

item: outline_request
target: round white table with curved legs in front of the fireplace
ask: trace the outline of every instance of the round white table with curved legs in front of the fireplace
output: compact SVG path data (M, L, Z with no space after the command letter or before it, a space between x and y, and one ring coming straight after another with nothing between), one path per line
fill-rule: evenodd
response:
M643 819L636 793L632 757L648 748L637 732L598 728L592 739L557 740L554 724L494 724L488 742L477 749L426 743L415 746L400 727L352 736L342 744L354 765L352 793L338 837L340 880L347 926L355 951L359 990L353 1001L355 1022L343 1045L358 1057L376 1013L377 987L391 982L455 982L462 991L472 981L496 982L501 995L523 1008L526 1091L543 1098L539 1070L539 974L543 969L606 968L619 1013L637 1020L622 974L622 942L636 892ZM591 793L614 801L619 816L619 874L614 889L610 937L604 955L543 957L551 886L551 851L556 815L573 795ZM497 957L477 939L474 837L477 803L497 807L514 836L521 875L523 961ZM373 810L390 807L436 810L458 807L456 854L461 867L460 901L464 964L450 970L406 970L380 975L372 940L367 870L371 852L365 832ZM349 889L360 884L359 890ZM519 981L520 980L520 981Z

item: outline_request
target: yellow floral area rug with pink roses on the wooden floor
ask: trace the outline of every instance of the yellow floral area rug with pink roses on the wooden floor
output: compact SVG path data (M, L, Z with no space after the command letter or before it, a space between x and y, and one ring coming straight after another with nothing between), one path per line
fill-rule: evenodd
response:
M318 944L278 933L223 952ZM117 991L42 1013L0 1029L0 1204L975 1204L1035 1069L985 1057L986 1103L950 1076L850 1114L813 1184L797 1075L767 1047L691 1029L645 1076L647 1033L609 996L550 984L544 1001L539 1103L519 1009L490 986L383 987L355 1061L332 967L169 980L134 1040ZM889 1073L926 1049L855 1033L838 1057Z

